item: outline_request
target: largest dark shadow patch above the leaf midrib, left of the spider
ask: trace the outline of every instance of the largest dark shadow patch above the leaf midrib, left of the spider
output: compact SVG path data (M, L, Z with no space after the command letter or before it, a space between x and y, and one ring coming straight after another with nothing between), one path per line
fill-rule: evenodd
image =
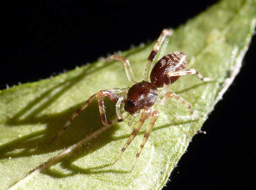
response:
M41 124L45 123L46 128L41 131L32 132L27 136L18 138L3 146L0 146L0 158L23 157L61 150L64 147L68 147L81 140L89 132L100 128L102 126L100 116L99 114L95 114L99 112L98 103L97 101L94 101L91 106L88 107L88 109L82 112L79 117L74 119L74 121L62 134L62 136L60 136L59 139L52 143L56 133L62 129L66 120L80 105L81 104L72 106L72 108L62 113L55 113L42 117L34 117L27 121L22 121L21 124L37 124L38 122ZM113 104L106 101L106 106L113 106ZM110 115L115 113L111 112L111 110L109 111ZM19 151L19 153L11 153L11 151L15 149L21 149L21 151Z

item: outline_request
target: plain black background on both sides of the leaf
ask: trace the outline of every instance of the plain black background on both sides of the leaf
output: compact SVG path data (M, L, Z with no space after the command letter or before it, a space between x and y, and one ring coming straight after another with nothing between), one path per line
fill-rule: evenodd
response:
M154 4L155 3L155 4ZM71 70L100 56L156 39L215 1L5 4L2 7L0 89ZM90 47L90 48L89 48ZM254 165L256 39L244 66L193 138L167 188L252 188Z

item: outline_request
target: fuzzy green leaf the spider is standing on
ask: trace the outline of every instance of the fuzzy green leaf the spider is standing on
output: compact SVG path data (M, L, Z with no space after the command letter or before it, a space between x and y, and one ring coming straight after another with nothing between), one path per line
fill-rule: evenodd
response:
M97 102L51 142L72 112L92 94L130 85L121 62L97 61L52 79L2 90L0 188L16 182L13 188L162 188L190 140L238 73L255 28L255 12L255 1L224 0L174 31L166 52L186 52L194 60L188 67L198 69L214 82L201 82L191 75L172 85L172 91L191 103L200 120L175 100L159 107L159 119L131 173L149 121L115 165L113 160L133 127L127 121L102 127ZM137 80L154 43L122 53L130 61ZM106 100L106 106L108 117L115 117L115 105Z

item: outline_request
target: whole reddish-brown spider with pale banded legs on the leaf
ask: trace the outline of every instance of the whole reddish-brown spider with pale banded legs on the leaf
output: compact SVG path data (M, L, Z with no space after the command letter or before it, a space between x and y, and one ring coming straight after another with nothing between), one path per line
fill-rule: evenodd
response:
M157 43L155 44L145 64L145 67L142 73L141 82L135 81L129 61L126 58L119 55L109 56L106 60L119 60L124 63L124 68L125 68L127 78L132 84L132 86L130 88L129 87L128 88L112 88L112 89L100 90L99 92L93 94L82 106L80 106L71 115L69 120L66 122L63 130L59 132L59 134L55 137L55 139L57 139L64 132L64 130L66 130L67 126L74 119L74 117L76 117L79 113L85 110L96 98L98 98L99 112L100 112L100 117L103 125L110 125L113 123L122 122L129 115L131 115L131 119L128 122L128 125L130 126L133 120L139 115L140 111L143 110L140 120L134 127L132 134L130 135L127 143L124 145L120 154L117 156L117 158L114 161L114 163L118 161L122 153L125 151L128 145L132 142L134 137L137 135L144 121L149 117L151 117L149 126L147 127L142 143L138 149L138 152L135 156L135 160L132 164L132 167L131 167L131 171L132 171L136 164L137 158L139 157L139 154L141 153L141 150L145 145L152 131L154 123L156 122L159 116L159 112L156 110L156 106L165 105L168 102L169 98L172 97L178 100L184 106L186 106L190 111L190 113L193 114L193 110L190 104L186 100L184 100L174 92L169 91L170 85L176 80L178 80L181 77L181 75L196 74L199 77L199 79L202 81L212 80L210 78L204 78L196 69L186 69L187 58L185 53L171 52L163 56L163 58L156 63L156 65L153 67L150 74L151 82L148 81L149 69L150 69L151 63L155 59L155 56L161 44L164 42L165 38L167 36L171 36L172 33L173 31L171 29L164 29L162 31L161 35L157 40ZM157 88L161 88L161 89L157 89ZM116 102L116 113L118 116L117 120L107 121L103 97L106 97L107 99ZM127 114L123 118L120 112L120 107L122 103L124 103L124 110L127 112Z

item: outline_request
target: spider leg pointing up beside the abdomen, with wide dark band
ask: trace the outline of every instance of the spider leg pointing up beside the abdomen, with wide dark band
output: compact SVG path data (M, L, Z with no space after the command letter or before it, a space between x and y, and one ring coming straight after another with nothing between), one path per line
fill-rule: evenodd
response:
M155 59L155 56L156 56L161 44L163 43L164 39L166 38L166 36L171 36L172 33L173 33L172 29L163 29L161 35L159 36L154 48L152 49L152 51L149 55L148 60L145 63L143 73L142 73L142 81L148 81L149 69L150 69L151 63Z

